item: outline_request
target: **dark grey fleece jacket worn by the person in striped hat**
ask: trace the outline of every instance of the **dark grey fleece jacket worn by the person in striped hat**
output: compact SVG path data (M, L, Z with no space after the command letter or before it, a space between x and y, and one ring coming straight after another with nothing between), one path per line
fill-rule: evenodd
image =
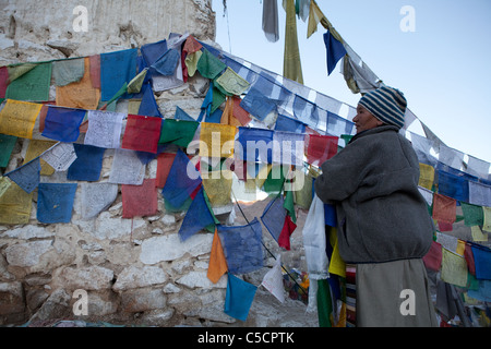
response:
M355 135L321 168L315 193L336 204L345 262L424 256L434 225L418 190L418 158L397 128L382 125Z

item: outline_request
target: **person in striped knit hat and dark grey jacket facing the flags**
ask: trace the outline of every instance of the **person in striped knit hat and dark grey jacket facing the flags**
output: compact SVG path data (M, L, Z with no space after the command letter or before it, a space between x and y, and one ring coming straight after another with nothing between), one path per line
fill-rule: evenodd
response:
M352 119L357 134L314 184L336 204L339 253L356 266L357 326L438 325L421 260L434 225L418 190L418 158L398 132L406 107L392 87L366 94Z

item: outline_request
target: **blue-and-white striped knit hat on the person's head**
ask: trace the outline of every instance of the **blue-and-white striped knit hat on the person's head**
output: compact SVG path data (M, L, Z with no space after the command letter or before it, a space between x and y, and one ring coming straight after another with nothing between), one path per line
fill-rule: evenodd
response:
M399 129L404 127L407 100L400 91L382 86L361 97L359 104L380 121Z

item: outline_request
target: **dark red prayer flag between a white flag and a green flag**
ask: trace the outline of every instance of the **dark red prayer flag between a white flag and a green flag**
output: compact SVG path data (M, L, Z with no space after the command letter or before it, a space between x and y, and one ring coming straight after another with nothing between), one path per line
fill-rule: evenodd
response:
M157 154L163 119L128 115L122 148Z

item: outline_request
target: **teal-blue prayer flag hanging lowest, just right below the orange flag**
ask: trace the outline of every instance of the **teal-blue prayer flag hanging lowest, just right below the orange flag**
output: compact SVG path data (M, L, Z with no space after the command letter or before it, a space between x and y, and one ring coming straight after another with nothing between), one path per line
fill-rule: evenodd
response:
M256 290L258 287L238 278L229 272L224 312L231 317L246 321Z

